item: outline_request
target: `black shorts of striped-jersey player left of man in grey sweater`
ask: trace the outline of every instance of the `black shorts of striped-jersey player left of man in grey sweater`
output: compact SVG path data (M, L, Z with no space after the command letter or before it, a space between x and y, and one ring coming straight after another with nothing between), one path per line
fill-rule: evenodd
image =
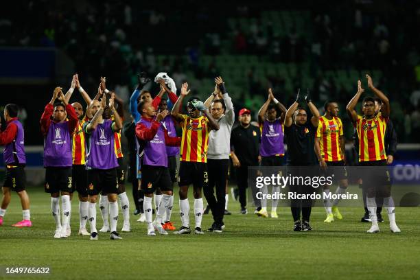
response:
M193 184L194 187L205 187L208 183L207 163L180 162L178 175L179 186Z

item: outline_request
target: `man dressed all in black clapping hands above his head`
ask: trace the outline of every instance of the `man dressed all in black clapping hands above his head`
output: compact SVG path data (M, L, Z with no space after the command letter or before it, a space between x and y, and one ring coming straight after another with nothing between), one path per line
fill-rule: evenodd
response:
M306 110L299 107L299 102L303 102L303 100L305 100L311 110L312 117L310 121L307 121ZM318 109L311 101L309 90L307 90L304 97L298 91L296 102L286 112L284 121L285 139L288 145L288 174L305 177L311 176L312 170L317 170L316 167L308 168L307 166L316 165L314 139L319 117ZM310 185L290 185L289 187L290 191L296 192L297 194L309 194L314 191ZM293 230L312 230L309 224L312 200L292 199L290 204L294 220Z

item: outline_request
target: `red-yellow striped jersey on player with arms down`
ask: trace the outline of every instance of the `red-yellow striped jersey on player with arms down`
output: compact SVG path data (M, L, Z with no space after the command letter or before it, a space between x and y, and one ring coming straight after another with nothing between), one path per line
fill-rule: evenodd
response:
M320 139L320 153L325 161L342 161L340 136L344 134L342 122L339 117L327 119L325 116L319 118L318 129L315 137Z

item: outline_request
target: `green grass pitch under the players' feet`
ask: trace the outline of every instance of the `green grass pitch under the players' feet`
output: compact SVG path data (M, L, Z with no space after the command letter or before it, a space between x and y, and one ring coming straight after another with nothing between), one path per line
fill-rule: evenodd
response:
M127 190L130 194L130 189ZM177 191L177 190L176 190ZM131 215L132 231L121 233L124 240L99 241L78 236L78 201L72 202L72 235L54 239L54 220L49 195L41 188L28 189L34 225L14 229L21 220L18 196L0 227L0 266L51 267L50 279L418 279L420 277L420 208L397 208L401 233L390 233L388 217L381 232L368 234L369 223L361 223L363 209L342 208L343 220L326 224L323 208L312 210L314 231L293 232L290 209L279 208L279 219L258 218L237 213L238 202L229 201L233 215L226 216L223 233L205 235L146 235L145 223ZM190 222L194 225L193 196ZM134 207L130 199L130 213ZM180 226L178 194L175 194L172 221ZM268 209L270 211L270 208ZM97 209L97 229L102 226ZM204 215L202 229L212 223ZM118 230L121 230L119 215ZM89 222L88 222L89 230ZM35 276L39 277L39 276ZM11 279L0 275L0 278ZM13 279L34 278L13 277Z

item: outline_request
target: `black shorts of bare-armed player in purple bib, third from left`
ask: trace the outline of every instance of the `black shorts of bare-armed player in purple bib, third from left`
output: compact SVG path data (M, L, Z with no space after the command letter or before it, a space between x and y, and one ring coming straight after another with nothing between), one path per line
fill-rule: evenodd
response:
M88 194L96 196L101 191L103 194L118 193L117 168L109 170L88 170Z

